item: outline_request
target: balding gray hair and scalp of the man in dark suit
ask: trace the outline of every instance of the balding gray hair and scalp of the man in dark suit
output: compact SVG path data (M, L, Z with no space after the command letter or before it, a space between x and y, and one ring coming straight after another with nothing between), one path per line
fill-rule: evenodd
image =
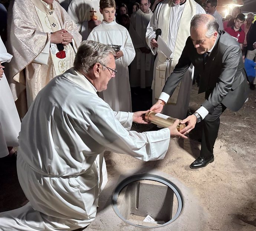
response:
M219 24L216 19L210 14L196 14L190 23L190 29L205 26L207 28L206 37L210 38L216 31L219 30Z

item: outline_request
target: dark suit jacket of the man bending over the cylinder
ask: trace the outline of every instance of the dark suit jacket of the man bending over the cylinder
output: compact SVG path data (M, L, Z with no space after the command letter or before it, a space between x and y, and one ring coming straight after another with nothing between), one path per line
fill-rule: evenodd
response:
M238 111L249 94L246 72L242 60L240 44L226 31L219 31L217 42L204 65L203 55L188 37L178 64L165 82L163 92L172 95L190 64L200 74L198 93L206 92L202 103L209 113L223 103L232 111Z

